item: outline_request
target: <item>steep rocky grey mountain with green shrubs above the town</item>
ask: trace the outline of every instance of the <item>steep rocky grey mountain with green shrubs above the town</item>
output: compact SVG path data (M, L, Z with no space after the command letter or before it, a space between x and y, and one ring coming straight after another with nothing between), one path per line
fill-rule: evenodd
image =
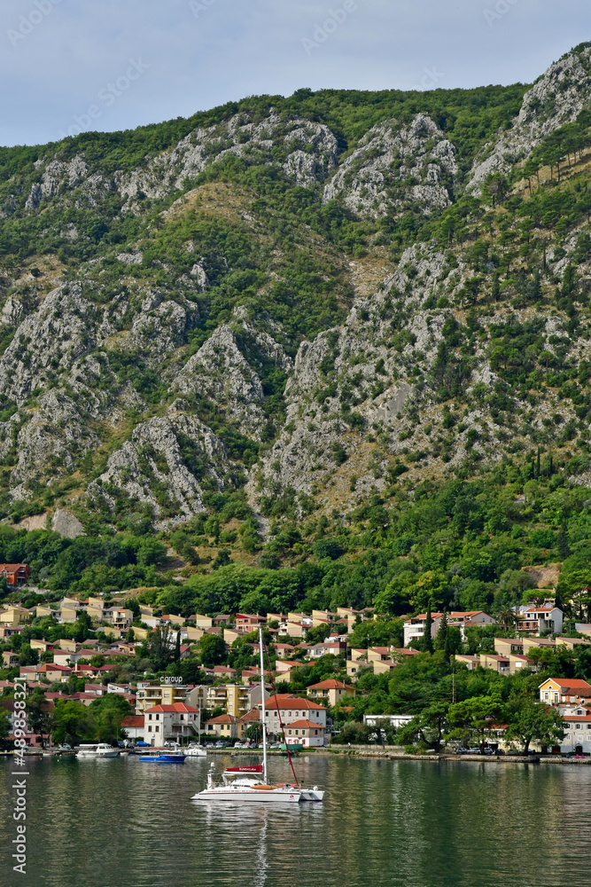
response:
M400 514L457 483L591 485L590 46L532 86L298 90L1 149L6 532L158 537L160 571L103 577L158 585L212 546L407 556Z

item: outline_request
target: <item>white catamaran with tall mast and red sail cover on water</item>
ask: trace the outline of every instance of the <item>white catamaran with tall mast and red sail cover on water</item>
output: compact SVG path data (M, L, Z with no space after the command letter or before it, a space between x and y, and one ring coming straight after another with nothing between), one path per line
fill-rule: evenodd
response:
M299 785L292 757L289 749L287 756L292 767L293 782L279 782L276 785L269 784L267 775L267 721L265 718L265 669L263 662L262 628L259 628L259 650L261 653L261 719L262 719L262 764L243 767L227 767L222 773L222 782L215 782L214 767L212 764L207 773L207 785L203 791L199 791L191 797L198 801L237 801L257 802L271 804L298 804L300 801L322 801L324 792L318 786L313 789L304 789ZM279 714L280 726L284 734L281 714Z

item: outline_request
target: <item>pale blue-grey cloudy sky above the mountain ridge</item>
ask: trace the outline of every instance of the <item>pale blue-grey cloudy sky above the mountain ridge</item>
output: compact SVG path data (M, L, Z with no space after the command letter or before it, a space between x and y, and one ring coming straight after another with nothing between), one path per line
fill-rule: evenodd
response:
M2 0L0 145L187 117L248 95L533 82L588 0Z

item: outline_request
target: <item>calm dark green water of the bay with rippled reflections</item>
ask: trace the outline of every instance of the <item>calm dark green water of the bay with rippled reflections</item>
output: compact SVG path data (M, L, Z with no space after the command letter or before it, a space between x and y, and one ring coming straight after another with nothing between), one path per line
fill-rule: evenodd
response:
M216 756L217 765L240 759ZM32 887L588 887L590 767L315 757L323 805L191 802L183 766L35 760L27 876L12 872L12 761L0 763L0 884ZM249 759L248 763L251 760ZM245 760L245 763L246 760ZM270 773L287 776L275 758Z

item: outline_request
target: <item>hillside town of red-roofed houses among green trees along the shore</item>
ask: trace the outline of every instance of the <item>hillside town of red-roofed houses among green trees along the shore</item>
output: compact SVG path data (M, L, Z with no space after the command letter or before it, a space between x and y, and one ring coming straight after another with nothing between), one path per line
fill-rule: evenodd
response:
M147 589L43 600L27 564L0 574L4 750L21 717L18 680L32 752L85 742L253 749L264 698L271 750L591 755L591 624L573 618L573 601L565 616L552 589L496 617L347 607L183 617L145 602ZM27 606L32 594L42 602Z

